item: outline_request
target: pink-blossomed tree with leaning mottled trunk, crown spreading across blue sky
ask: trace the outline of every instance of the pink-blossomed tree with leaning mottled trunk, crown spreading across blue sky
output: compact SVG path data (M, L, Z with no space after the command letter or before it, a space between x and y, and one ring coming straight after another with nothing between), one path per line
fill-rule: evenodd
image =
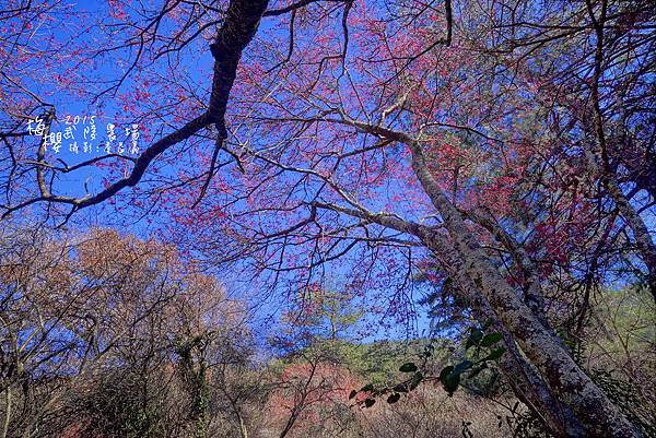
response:
M581 325L613 270L655 291L647 1L110 3L121 33L94 32L110 46L74 55L131 52L109 92L136 86L130 117L165 128L136 158L60 166L4 108L5 215L156 206L179 245L215 261L301 289L339 263L397 312L430 267L503 334L504 370L553 434L639 436L554 323L574 309ZM15 82L3 93L26 99L23 117L45 108ZM103 187L58 191L98 165Z

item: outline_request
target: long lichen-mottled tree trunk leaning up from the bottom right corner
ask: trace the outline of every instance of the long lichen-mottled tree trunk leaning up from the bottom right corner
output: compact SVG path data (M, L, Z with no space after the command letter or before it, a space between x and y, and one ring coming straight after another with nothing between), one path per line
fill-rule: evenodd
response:
M455 250L464 261L464 272L554 393L570 406L588 434L599 437L640 437L641 434L618 406L578 367L558 338L547 330L502 279L427 169L420 144L411 141L409 146L412 151L412 168L444 220L455 242ZM432 242L426 237L424 242L430 247Z

